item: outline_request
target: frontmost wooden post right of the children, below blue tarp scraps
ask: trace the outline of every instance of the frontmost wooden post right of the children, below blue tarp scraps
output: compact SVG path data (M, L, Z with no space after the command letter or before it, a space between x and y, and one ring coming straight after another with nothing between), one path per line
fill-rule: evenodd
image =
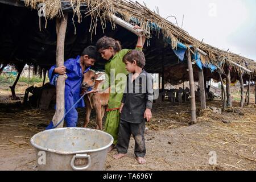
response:
M196 123L196 96L195 96L195 82L193 76L193 67L191 61L191 52L187 49L188 56L188 74L189 74L189 86L191 94L191 122L189 124L193 125Z

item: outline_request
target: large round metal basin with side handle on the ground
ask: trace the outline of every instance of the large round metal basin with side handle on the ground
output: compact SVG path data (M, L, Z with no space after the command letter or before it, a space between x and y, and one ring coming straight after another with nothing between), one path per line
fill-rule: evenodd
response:
M85 128L46 130L31 138L40 171L103 170L113 141L104 131Z

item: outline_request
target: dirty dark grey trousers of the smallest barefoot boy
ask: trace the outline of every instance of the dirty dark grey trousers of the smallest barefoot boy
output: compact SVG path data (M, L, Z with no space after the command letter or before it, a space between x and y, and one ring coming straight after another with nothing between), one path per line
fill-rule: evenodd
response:
M134 154L135 156L143 158L146 155L146 146L144 139L144 130L145 130L146 121L143 121L139 124L129 123L126 121L120 120L119 129L118 129L118 141L117 141L117 151L118 154L126 154L131 135L135 140Z

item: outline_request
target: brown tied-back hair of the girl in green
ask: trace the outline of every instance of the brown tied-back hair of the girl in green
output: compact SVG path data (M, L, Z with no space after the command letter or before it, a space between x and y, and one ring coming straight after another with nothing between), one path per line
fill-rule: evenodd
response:
M113 47L113 49L118 52L121 51L122 47L119 41L104 36L103 38L98 39L96 43L97 51L108 49L109 47Z

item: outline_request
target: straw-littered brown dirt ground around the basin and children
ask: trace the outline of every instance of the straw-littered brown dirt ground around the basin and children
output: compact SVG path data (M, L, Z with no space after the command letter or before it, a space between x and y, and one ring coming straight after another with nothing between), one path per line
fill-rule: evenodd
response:
M27 85L20 84L17 95L23 101L22 87ZM9 94L0 92L0 170L36 170L30 138L45 129L54 110L31 110L20 101L11 101ZM238 104L235 101L234 107L222 114L197 110L198 122L192 126L188 125L189 103L154 104L145 134L147 163L136 162L131 138L127 156L114 160L117 151L113 150L106 158L105 170L256 170L256 105L241 109ZM221 101L207 105L221 107ZM84 118L85 110L79 109L79 127ZM216 165L209 164L209 153L216 154Z

